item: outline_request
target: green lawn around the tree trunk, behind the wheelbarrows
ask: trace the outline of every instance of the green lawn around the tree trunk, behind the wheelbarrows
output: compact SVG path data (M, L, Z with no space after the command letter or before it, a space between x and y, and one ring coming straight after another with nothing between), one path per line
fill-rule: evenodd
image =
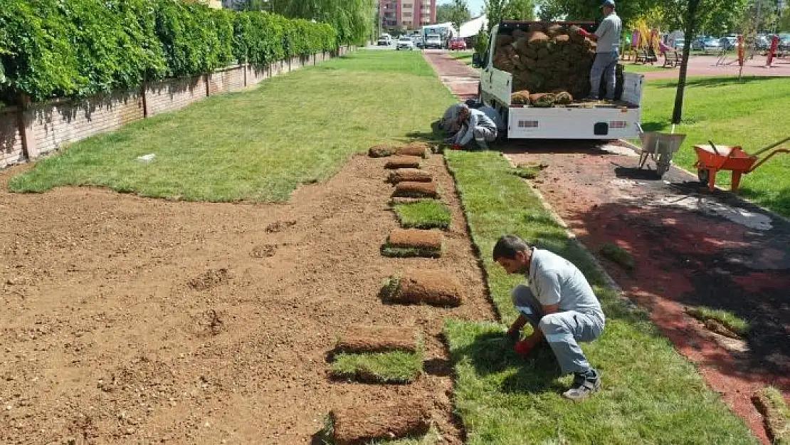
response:
M642 126L649 131L670 131L677 81L649 81L642 100ZM742 145L747 153L790 136L787 107L790 78L694 77L688 81L683 123L676 133L687 134L675 164L696 173L694 145ZM784 145L790 148L790 143ZM790 154L780 153L741 179L739 194L785 217L790 217ZM729 188L730 174L717 175Z

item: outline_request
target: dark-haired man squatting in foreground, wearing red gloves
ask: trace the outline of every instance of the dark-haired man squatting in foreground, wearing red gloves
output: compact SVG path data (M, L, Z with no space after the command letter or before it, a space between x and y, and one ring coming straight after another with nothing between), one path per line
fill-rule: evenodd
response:
M507 336L516 341L516 353L528 356L548 343L562 374L574 373L573 386L562 396L584 400L600 388L600 376L577 341L599 338L605 324L604 311L587 279L570 261L514 235L500 237L493 256L507 273L523 273L529 280L529 286L518 285L510 294L519 315ZM533 334L519 340L528 322Z

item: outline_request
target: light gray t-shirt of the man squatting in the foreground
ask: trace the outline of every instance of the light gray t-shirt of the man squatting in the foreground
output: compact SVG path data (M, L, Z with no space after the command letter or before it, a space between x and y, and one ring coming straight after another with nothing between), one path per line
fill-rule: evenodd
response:
M581 270L550 251L532 249L529 288L544 306L557 304L559 311L596 312L603 319L600 303Z

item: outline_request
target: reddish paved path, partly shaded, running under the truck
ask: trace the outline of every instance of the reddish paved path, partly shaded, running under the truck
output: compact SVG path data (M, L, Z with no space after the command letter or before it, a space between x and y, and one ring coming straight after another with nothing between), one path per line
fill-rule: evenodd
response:
M451 91L468 93L458 73L471 69L425 56ZM590 251L615 243L630 253L633 271L600 259L768 443L751 396L769 384L790 394L790 222L728 192L708 193L676 168L656 179L634 168L635 157L596 141L512 141L501 149L513 164L547 164L532 187ZM715 334L686 315L686 305L731 311L751 322L751 333Z

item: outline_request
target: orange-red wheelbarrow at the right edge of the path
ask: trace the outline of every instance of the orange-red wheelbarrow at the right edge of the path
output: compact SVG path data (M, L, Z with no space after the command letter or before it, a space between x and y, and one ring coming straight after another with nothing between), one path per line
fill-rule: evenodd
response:
M790 138L784 138L767 147L758 150L757 153L749 154L743 151L740 146L716 145L709 141L709 145L694 145L697 152L697 168L699 182L708 185L708 189L713 191L716 187L716 173L719 170L730 170L732 172L732 185L730 190L738 190L740 177L746 173L754 172L756 168L765 164L766 160L771 159L777 153L790 153L790 149L774 149ZM760 159L759 155L773 149L768 156Z

